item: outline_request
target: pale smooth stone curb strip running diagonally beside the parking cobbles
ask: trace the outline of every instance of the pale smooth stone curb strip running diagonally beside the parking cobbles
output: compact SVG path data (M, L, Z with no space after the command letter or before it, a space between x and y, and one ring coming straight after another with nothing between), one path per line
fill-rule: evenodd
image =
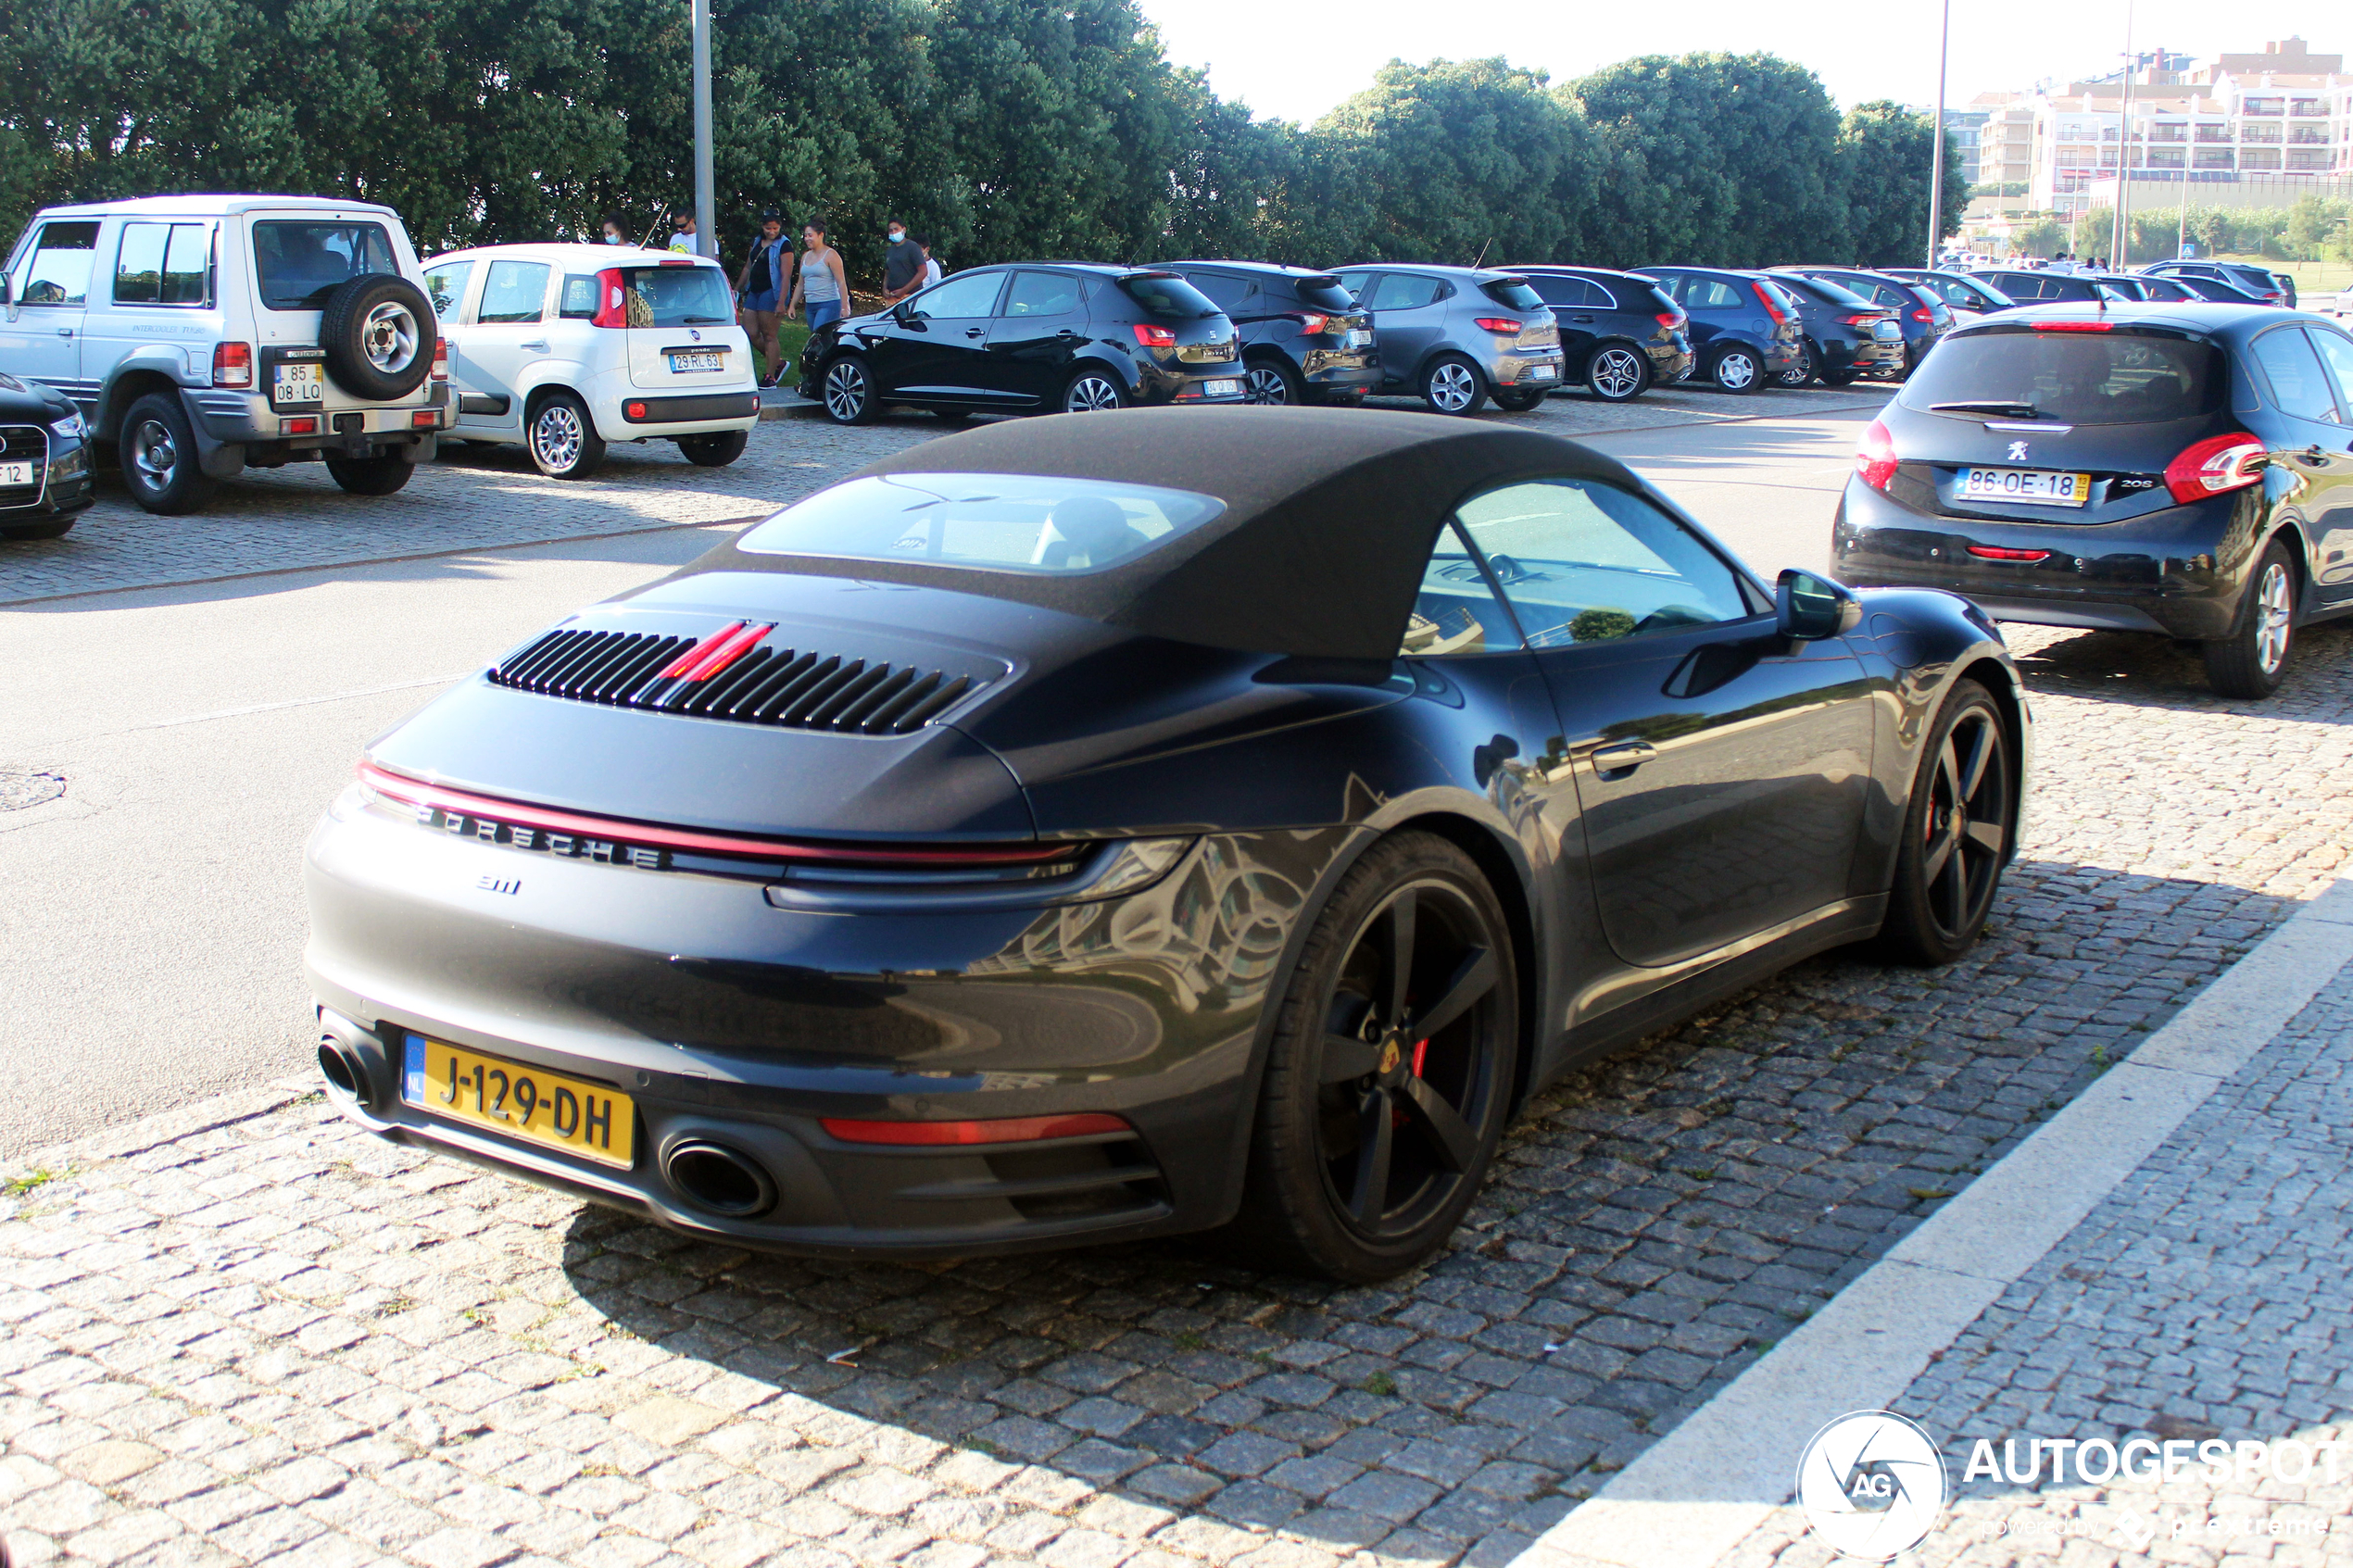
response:
M1647 1448L1513 1568L1708 1568L1791 1500L1807 1439L1885 1408L2353 961L2353 879Z

